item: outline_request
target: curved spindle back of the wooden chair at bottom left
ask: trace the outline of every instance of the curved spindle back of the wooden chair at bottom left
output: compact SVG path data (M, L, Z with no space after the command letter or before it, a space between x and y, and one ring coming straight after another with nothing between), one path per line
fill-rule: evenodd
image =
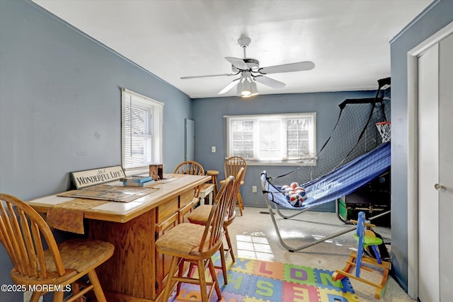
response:
M47 278L44 239L55 262L56 273L63 276L65 269L57 243L40 214L21 199L8 194L0 194L0 209L1 243L16 272L24 277Z

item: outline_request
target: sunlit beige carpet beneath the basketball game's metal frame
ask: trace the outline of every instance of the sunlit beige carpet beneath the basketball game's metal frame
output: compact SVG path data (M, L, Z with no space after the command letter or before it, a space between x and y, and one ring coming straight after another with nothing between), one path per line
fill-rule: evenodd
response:
M263 197L260 196L260 198ZM357 242L351 232L305 250L289 252L280 245L270 215L263 214L265 210L246 207L243 210L243 216L236 216L234 222L229 226L234 254L238 257L334 271L343 269L350 252L356 250ZM338 220L335 213L316 211L308 211L294 219L278 218L277 223L285 242L294 246L309 243L311 240L322 238L347 227ZM391 242L390 228L378 227L376 231L382 235L384 242ZM387 245L387 248L390 250L391 245ZM364 276L374 282L379 281L382 277L380 274L368 274L367 272L364 273ZM374 287L354 279L350 279L350 283L360 302L416 302L406 294L393 277L389 277L387 280L386 290L380 300L374 298Z

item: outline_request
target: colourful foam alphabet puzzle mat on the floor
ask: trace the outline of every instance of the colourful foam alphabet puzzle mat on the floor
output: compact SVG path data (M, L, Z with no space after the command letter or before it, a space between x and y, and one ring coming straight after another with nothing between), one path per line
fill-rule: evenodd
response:
M219 265L218 256L215 261ZM237 258L234 264L229 262L228 284L222 286L221 271L218 279L222 301L358 301L349 279L332 281L331 274L301 265ZM200 289L197 285L183 284L180 294L173 293L169 301L200 301ZM217 301L215 293L211 301Z

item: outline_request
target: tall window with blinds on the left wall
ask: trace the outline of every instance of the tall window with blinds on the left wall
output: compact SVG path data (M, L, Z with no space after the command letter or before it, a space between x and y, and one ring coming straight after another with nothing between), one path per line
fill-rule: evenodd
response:
M122 167L147 172L150 164L162 163L164 104L125 88L121 94Z

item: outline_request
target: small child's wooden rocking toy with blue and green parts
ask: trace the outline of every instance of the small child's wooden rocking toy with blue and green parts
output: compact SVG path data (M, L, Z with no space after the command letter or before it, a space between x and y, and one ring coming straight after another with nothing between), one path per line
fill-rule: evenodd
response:
M352 220L351 220L352 221ZM390 262L383 261L381 259L378 246L382 244L382 239L377 238L374 235L374 232L367 230L366 228L374 228L374 225L371 223L365 222L365 212L360 211L357 221L352 221L357 223L357 230L354 234L355 239L357 240L357 252L351 252L349 260L346 261L346 265L343 270L336 269L332 274L332 279L337 281L343 279L344 277L349 277L362 281L365 284L376 287L376 292L374 297L379 299L382 294L384 294L387 278L389 277ZM376 258L369 257L364 254L365 248L370 246L374 252ZM365 263L365 265L362 265ZM355 274L351 274L352 268L355 267ZM377 269L372 269L376 267ZM370 281L360 276L361 270L366 270L368 272L378 272L382 274L382 279L380 283Z

